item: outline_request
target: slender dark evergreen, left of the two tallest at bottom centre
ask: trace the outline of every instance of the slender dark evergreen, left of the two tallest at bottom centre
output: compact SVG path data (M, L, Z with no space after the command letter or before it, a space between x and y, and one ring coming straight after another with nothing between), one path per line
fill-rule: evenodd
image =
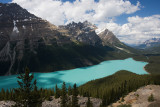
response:
M67 92L66 92L66 84L63 82L62 85L62 93L61 93L61 107L67 106Z

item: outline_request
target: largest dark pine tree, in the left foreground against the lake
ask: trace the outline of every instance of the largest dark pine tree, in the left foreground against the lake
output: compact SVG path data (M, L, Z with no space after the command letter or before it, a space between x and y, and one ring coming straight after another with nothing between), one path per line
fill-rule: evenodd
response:
M19 75L17 78L20 79L18 82L19 88L15 89L15 99L17 107L40 107L41 99L40 94L37 90L36 80L33 81L33 74L29 74L30 71L26 67L25 74Z

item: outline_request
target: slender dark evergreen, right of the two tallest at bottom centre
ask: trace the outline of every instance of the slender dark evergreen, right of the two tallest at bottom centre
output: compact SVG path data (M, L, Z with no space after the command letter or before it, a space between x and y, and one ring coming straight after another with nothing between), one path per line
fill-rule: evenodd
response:
M78 105L78 90L76 84L73 86L72 107L79 107Z

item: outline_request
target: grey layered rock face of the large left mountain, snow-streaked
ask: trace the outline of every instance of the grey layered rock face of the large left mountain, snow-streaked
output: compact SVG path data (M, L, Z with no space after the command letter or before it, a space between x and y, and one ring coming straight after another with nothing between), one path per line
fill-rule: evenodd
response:
M69 37L57 31L57 26L36 17L17 4L0 3L0 61L8 63L4 71L11 74L15 59L22 60L24 50L35 51L39 44L64 45ZM4 67L3 67L4 68Z

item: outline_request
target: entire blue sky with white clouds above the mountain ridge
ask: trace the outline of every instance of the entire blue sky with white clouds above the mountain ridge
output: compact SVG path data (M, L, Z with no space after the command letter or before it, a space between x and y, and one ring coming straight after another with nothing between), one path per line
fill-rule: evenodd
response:
M14 2L55 25L88 20L122 42L160 38L160 0L0 0Z

